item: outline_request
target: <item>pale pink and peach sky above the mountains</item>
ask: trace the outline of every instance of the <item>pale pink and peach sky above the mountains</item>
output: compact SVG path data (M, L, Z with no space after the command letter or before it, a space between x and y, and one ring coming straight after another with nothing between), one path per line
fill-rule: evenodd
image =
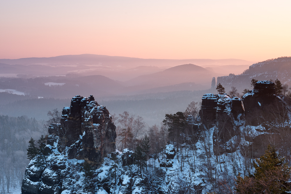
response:
M0 58L290 56L291 1L1 0Z

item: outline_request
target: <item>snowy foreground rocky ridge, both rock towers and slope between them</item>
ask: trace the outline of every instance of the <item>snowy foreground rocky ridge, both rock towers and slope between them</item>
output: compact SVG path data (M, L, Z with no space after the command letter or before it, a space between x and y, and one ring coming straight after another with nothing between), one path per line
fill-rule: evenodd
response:
M203 95L192 126L195 142L179 149L166 145L150 157L146 171L136 165L134 151L115 149L116 131L108 110L93 96L76 96L63 109L61 123L49 127L47 165L38 166L33 159L27 166L22 194L211 192L215 179L247 173L243 161L264 153L270 135L276 136L264 117L274 119L268 113L276 104L284 103L270 81L257 82L242 99ZM84 183L84 162L93 167L91 184Z

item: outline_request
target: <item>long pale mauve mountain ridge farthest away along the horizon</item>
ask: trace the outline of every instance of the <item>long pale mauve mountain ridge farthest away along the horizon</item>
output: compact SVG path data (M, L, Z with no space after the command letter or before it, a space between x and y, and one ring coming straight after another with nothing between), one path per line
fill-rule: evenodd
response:
M196 65L251 65L253 62L241 59L143 59L95 54L63 55L42 58L0 59L0 63L18 65L96 65L110 67L176 66L187 63Z

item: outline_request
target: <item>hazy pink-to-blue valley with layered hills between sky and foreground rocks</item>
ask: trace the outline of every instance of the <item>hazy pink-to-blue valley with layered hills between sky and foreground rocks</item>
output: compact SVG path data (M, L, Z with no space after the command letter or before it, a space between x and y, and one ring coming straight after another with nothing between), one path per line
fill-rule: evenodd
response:
M204 93L212 91L212 77L239 74L252 64L237 59L89 54L0 59L0 63L0 114L47 120L48 111L61 111L72 96L93 95L112 114L128 111L149 125L160 124L166 113L186 110L192 101L200 102Z

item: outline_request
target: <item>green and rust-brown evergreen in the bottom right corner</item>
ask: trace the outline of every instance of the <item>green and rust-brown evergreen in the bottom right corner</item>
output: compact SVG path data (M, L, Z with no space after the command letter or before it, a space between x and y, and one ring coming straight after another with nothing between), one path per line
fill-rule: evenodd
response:
M274 147L268 146L265 154L253 163L254 175L237 177L237 193L285 193L290 190L290 168L279 159Z

